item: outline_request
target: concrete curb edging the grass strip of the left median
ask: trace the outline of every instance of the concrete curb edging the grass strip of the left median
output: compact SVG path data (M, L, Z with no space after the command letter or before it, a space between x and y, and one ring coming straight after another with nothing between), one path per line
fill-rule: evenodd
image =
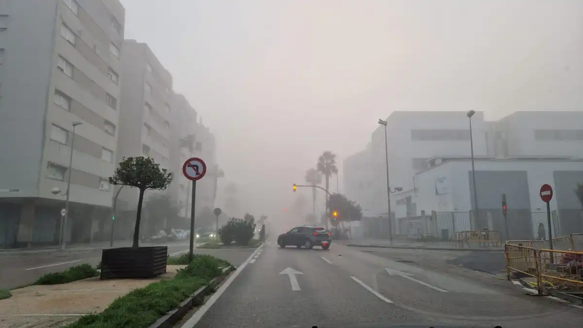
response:
M216 277L209 282L208 285L202 286L197 291L194 292L189 298L185 299L178 305L178 308L171 310L166 313L163 317L156 320L149 328L171 328L177 324L182 317L187 315L187 313L195 306L202 305L204 303L204 298L213 292L216 285L220 284L227 277L231 271L236 270L236 268L229 266L223 268L223 275Z

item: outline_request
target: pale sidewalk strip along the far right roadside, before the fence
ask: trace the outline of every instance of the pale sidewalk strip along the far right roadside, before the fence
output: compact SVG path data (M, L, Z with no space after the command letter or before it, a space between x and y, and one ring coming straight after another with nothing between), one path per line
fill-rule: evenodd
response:
M458 243L454 242L415 242L409 240L393 240L393 243L388 239L349 239L349 240L335 240L336 243L352 246L352 247L377 247L377 248L394 248L394 249L426 249L426 250L466 250L473 252L503 252L504 247L483 246L478 244L464 244L463 247L458 247Z

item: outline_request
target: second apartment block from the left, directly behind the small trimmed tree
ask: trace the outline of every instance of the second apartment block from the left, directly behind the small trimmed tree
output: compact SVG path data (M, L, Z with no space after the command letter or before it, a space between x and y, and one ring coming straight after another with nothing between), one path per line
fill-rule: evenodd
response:
M164 68L145 43L124 40L121 54L122 95L120 102L120 135L117 162L124 157L149 156L161 168L170 166L171 130L174 100L172 75ZM175 173L175 172L173 172ZM145 197L160 191L147 191ZM138 191L124 188L117 208L135 214Z

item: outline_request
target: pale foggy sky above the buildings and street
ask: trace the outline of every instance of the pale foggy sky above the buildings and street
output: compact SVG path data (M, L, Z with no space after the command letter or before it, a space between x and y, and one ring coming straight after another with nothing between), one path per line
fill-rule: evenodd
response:
M580 0L121 2L256 217L290 206L325 150L342 192L342 159L394 110L582 109Z

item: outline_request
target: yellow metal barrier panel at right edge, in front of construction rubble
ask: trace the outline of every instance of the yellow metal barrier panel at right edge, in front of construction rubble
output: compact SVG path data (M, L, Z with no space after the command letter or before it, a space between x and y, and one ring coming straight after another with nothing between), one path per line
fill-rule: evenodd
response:
M538 250L539 285L553 282L554 288L583 289L583 252L573 250Z

